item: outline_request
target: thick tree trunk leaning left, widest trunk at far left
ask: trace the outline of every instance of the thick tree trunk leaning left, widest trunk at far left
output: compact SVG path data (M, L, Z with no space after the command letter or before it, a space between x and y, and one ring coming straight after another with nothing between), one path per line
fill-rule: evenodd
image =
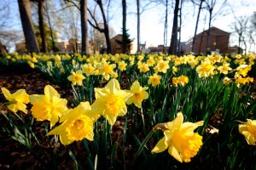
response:
M38 53L38 42L35 36L35 32L32 25L32 14L30 8L29 0L18 0L20 9L20 19L24 32L24 37L26 39L26 49L27 52Z

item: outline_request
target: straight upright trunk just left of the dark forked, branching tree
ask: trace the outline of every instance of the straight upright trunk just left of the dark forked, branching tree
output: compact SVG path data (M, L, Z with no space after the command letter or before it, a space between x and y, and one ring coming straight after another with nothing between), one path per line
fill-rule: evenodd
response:
M80 14L81 14L81 35L82 35L82 53L87 55L89 42L88 42L88 24L87 24L87 0L80 1Z

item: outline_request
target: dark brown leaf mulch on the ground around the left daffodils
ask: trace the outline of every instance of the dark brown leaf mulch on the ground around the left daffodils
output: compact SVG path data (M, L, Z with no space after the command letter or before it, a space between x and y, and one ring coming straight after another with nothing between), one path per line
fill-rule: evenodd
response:
M27 94L44 94L44 87L51 85L56 91L61 94L61 98L65 98L68 101L68 107L71 108L71 102L73 98L73 92L71 88L63 89L59 85L50 82L47 77L40 74L39 71L32 70L26 66L15 65L13 67L4 67L0 65L0 88L4 87L9 89L10 93L15 93L16 90L23 88ZM122 84L122 86L125 86ZM0 105L5 102L6 99L0 90ZM23 117L27 122L31 119L32 105L28 105L28 114L25 115L21 112L18 114ZM15 116L14 116L15 117ZM18 120L19 121L19 120ZM9 122L0 113L0 123L6 127L9 127ZM26 146L20 144L15 139L11 139L7 134L3 133L0 127L0 169L73 169L74 161L68 154L69 150L72 150L75 156L84 157L84 162L79 162L82 167L88 167L86 161L86 155L84 145L81 142L74 142L67 146L62 144L56 145L52 139L45 137L44 126L49 127L49 122L34 122L32 131L36 134L41 146L38 147L34 140L32 140L33 148L29 150ZM124 122L118 121L112 129L113 141L118 141L121 145L122 132ZM129 144L127 148L125 146L126 154L131 151ZM131 159L131 154L129 156ZM57 165L55 165L57 164ZM54 167L52 167L55 165Z

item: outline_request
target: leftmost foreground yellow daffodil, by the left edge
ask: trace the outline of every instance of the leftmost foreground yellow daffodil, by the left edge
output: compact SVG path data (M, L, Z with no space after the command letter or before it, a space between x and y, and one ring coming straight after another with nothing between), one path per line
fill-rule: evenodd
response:
M25 104L29 103L29 98L26 94L25 89L17 90L14 94L10 94L9 90L6 88L1 88L1 90L5 99L9 101L9 105L7 105L7 108L10 111L13 111L15 113L17 111L23 111L24 113L27 113Z

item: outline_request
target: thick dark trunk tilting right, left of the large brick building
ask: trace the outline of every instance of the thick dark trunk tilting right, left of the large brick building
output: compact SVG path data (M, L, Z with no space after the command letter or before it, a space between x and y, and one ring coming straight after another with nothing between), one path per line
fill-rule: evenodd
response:
M172 39L168 54L177 54L177 14L178 14L179 0L175 2L173 25L172 25Z

